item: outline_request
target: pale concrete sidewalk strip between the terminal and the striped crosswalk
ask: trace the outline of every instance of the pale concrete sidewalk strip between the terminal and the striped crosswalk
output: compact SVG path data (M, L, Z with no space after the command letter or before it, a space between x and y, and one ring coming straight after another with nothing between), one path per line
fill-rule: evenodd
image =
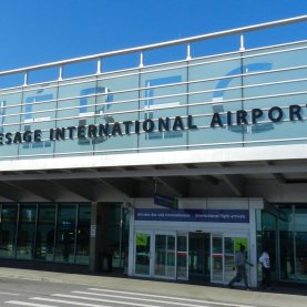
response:
M307 287L297 290L276 287L274 291L247 291L244 289L228 289L223 286L192 285L176 282L145 280L129 277L96 276L85 274L68 274L58 272L32 270L20 268L0 268L0 286L6 278L22 278L30 280L78 284L121 290L180 296L209 301L235 303L243 306L278 306L306 307Z

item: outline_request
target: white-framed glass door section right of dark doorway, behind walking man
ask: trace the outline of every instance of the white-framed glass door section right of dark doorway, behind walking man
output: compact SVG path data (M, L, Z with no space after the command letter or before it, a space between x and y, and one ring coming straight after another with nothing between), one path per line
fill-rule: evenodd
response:
M248 259L248 239L245 237L212 235L212 267L211 280L213 283L229 283L235 272L235 253L241 245L245 246ZM248 270L247 270L248 272Z

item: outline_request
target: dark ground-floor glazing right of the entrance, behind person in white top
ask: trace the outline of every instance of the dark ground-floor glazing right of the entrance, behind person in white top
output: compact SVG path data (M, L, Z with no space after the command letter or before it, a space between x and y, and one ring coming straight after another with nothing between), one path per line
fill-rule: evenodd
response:
M276 212L257 212L257 252L270 255L275 280L307 282L307 209L277 205ZM258 275L262 275L260 267ZM259 278L260 280L260 278Z

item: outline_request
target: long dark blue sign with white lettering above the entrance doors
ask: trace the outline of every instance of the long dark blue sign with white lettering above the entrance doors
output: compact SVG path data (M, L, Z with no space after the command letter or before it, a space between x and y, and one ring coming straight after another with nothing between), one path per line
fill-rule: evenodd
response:
M135 221L249 223L248 209L161 209L136 208Z

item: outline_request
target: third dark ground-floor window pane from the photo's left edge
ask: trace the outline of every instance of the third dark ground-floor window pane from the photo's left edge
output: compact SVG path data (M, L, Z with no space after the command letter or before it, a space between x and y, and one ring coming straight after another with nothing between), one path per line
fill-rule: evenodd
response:
M37 259L53 262L55 235L55 205L39 205L35 242Z

